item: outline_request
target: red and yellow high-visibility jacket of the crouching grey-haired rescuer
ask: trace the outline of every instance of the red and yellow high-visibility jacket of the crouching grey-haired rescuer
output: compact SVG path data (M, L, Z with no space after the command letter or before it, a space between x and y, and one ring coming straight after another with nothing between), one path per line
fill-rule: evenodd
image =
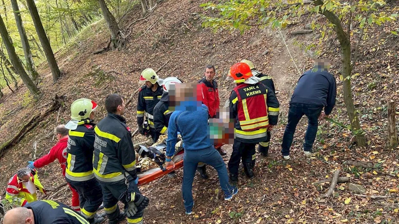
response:
M37 173L33 175L30 173L30 181L34 183L36 188L42 193L45 193L43 186L41 185ZM31 194L28 189L24 187L22 182L20 182L17 174L10 178L6 189L6 199L10 202L17 202L20 206L24 206L26 202L30 203L38 200L36 193Z

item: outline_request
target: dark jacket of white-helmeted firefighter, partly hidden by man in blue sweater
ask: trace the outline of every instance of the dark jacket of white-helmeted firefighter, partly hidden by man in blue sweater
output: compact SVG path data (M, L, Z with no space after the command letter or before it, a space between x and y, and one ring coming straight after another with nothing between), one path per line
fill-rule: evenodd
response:
M168 134L170 115L174 110L169 110L169 94L164 92L161 100L154 107L154 126L156 132Z

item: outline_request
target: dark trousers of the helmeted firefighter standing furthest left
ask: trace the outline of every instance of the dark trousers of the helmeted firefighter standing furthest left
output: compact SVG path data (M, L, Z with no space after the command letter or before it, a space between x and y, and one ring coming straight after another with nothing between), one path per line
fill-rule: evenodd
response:
M79 194L81 214L90 222L90 219L94 218L98 208L103 203L100 183L95 178L88 181L71 181L67 178L65 179Z

